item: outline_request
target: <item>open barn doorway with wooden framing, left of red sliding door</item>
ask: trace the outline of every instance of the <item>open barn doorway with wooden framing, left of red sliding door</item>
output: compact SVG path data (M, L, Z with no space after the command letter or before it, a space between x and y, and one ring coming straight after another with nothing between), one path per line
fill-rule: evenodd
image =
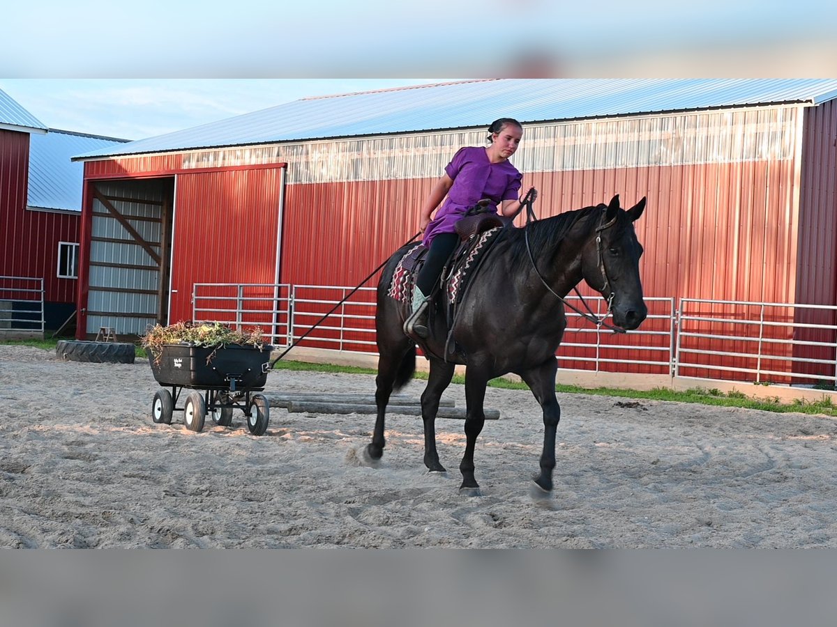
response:
M168 323L174 179L91 184L88 336L139 336Z

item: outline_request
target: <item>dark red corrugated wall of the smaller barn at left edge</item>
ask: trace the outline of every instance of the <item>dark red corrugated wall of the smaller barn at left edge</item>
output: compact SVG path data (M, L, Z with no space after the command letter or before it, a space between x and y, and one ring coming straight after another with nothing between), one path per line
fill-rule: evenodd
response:
M76 280L58 278L59 242L79 242L79 217L26 209L29 135L0 130L0 274L44 278L48 303L74 303Z

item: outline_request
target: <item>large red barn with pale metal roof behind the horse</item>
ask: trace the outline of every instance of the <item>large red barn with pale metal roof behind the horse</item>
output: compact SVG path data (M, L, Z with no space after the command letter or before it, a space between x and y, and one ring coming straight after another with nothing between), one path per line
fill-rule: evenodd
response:
M632 371L670 375L676 344L680 375L711 375L726 359L737 365L723 376L746 379L736 342L753 338L741 331L716 348L710 331L723 320L712 316L732 308L727 317L749 324L750 303L837 304L835 98L826 79L475 80L301 99L79 155L79 337L192 319L196 283L357 285L416 231L454 151L483 145L491 120L511 116L525 129L513 161L539 190L541 217L616 193L624 206L648 197L641 271L661 313L634 336L653 331L628 351ZM677 319L690 299L694 336ZM760 343L833 341L819 328L833 309L767 317ZM590 350L567 347L562 365L587 367ZM808 350L788 344L776 368L791 372ZM661 357L643 357L651 351ZM833 349L830 359L816 368L833 376ZM624 364L596 357L597 369Z

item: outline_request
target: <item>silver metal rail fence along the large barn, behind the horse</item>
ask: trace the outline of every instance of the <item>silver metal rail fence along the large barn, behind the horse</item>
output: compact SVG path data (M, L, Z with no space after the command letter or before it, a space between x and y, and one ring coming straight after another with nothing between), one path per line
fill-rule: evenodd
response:
M300 346L377 354L375 293L335 285L196 283L193 319L259 326L280 348L307 334ZM601 298L586 300L603 314ZM837 385L837 306L697 298L681 298L679 308L675 298L645 303L648 318L628 334L596 328L567 311L557 353L562 369Z

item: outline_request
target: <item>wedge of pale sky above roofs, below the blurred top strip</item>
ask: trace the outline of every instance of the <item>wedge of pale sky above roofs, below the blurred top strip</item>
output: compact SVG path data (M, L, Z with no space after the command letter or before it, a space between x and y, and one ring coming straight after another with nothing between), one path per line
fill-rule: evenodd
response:
M49 128L139 140L311 96L454 79L0 79Z

